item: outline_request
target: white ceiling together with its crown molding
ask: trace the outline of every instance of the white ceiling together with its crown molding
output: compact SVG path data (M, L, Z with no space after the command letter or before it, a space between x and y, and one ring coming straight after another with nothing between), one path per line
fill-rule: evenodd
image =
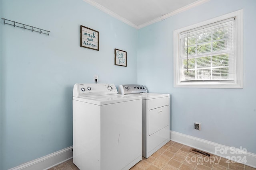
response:
M136 29L164 20L209 0L84 0Z

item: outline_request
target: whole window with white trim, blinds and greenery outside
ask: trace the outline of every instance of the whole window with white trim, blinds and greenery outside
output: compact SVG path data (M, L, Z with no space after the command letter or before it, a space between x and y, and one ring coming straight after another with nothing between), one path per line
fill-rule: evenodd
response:
M174 31L174 87L243 88L243 10Z

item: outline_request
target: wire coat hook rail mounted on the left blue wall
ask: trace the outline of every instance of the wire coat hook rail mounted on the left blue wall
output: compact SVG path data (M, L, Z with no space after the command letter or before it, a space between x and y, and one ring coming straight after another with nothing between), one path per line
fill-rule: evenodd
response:
M19 22L16 22L16 21L7 20L5 18L2 18L2 20L4 20L4 24L13 25L14 27L20 27L20 28L23 28L23 29L28 29L28 30L31 30L32 32L35 31L35 32L38 32L40 34L42 34L42 33L46 34L46 35L50 34L50 31L47 31L47 30L44 30L44 29L41 29L41 28L37 28L37 27L33 27L33 26L30 26L30 25L26 25L24 23L19 23Z

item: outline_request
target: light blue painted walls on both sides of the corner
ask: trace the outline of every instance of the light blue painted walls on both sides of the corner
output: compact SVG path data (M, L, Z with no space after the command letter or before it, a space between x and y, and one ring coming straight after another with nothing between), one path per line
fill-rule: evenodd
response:
M244 89L173 88L173 31L242 8ZM171 94L172 131L256 153L255 0L211 0L139 31L82 0L0 0L0 15L51 31L0 23L0 169L72 145L72 86L94 74ZM100 51L80 47L80 25L100 32ZM114 65L114 48L128 52L127 67Z

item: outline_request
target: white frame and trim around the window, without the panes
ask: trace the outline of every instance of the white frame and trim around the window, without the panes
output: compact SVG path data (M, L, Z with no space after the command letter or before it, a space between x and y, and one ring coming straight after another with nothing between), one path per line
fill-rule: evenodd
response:
M228 81L205 81L205 82L182 82L180 81L180 33L191 29L196 29L215 22L236 18L236 49L234 50L234 64L236 65L236 78L234 82ZM229 14L222 15L207 21L196 23L187 27L176 29L173 32L174 45L174 87L177 88L243 88L244 86L244 69L243 69L243 35L244 35L244 10L238 10Z

